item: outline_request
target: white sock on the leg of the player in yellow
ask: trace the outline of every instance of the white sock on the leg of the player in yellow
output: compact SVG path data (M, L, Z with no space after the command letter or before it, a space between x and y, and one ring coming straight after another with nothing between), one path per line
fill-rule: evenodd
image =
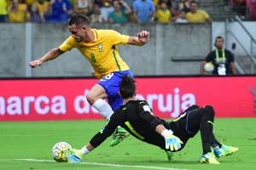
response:
M100 112L100 114L109 121L110 116L113 115L113 110L111 109L110 105L104 100L104 99L97 99L96 102L92 105L94 108L96 108L97 111Z

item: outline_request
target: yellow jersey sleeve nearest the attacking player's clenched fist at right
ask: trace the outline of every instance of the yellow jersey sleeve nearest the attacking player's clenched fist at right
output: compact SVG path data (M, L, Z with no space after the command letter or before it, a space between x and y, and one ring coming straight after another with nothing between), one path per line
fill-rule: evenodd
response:
M120 34L118 31L108 30L108 38L112 44L124 44L126 45L130 36Z

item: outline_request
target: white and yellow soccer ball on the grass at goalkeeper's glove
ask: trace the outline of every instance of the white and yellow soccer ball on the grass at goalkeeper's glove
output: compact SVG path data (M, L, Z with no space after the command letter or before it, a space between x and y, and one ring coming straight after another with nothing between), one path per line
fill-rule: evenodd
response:
M67 156L71 155L72 147L67 142L58 142L51 150L51 154L55 161L67 162Z

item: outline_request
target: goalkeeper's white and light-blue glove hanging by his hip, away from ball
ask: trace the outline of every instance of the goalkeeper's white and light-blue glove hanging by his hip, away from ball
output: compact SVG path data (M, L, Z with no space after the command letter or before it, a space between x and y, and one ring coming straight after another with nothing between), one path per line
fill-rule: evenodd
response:
M165 129L161 135L166 139L166 150L179 150L183 141L172 134L172 130Z

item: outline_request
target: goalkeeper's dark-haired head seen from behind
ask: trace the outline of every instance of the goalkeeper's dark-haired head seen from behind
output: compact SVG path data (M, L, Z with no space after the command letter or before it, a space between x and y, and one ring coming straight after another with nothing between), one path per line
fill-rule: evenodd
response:
M119 82L119 93L123 99L132 98L134 93L136 93L135 82L135 79L128 74L125 74L125 77Z

